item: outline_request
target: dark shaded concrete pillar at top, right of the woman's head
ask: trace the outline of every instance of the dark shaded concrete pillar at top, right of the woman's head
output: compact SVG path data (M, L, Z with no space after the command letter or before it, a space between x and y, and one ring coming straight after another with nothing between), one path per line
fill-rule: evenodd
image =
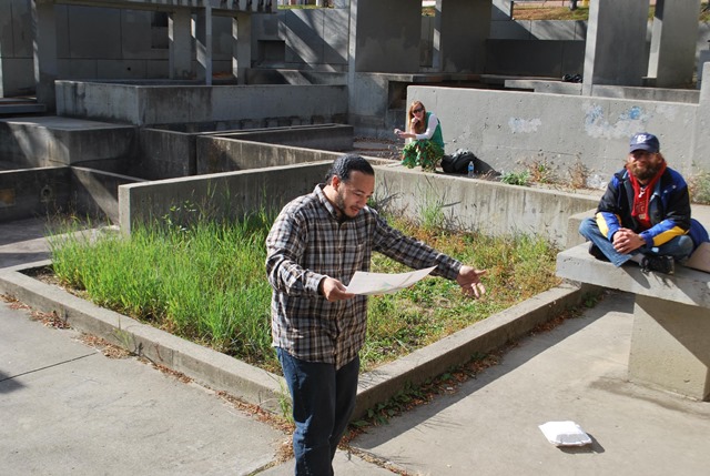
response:
M490 0L436 0L435 71L484 72L491 11Z

